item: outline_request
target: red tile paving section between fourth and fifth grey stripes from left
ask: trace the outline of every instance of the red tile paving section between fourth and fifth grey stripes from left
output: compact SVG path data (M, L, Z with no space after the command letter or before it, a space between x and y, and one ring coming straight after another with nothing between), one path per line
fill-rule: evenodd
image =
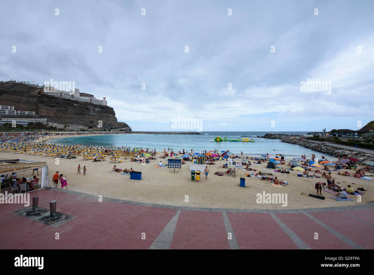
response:
M374 248L374 228L341 211L309 213L325 225L361 245L365 249Z

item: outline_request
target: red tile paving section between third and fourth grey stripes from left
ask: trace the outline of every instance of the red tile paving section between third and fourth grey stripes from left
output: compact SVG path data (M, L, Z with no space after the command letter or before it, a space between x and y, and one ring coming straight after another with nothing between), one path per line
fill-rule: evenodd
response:
M312 249L353 249L303 213L275 215ZM317 240L315 233L318 233Z

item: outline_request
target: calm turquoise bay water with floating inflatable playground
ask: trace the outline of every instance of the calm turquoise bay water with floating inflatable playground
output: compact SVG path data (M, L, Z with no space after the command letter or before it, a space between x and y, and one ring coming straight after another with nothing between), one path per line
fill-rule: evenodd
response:
M320 158L320 152L304 148L300 145L281 142L278 139L264 139L256 136L263 136L267 132L201 132L204 135L164 135L164 134L123 134L123 135L102 135L102 136L78 136L78 137L62 137L52 139L50 143L60 143L68 145L99 145L99 146L131 146L142 148L156 148L157 151L163 151L165 148L174 149L174 151L186 152L202 151L218 151L229 150L234 154L243 152L245 155L262 155L269 153L270 155L283 154L285 157L300 157L301 155L311 156L315 154ZM277 134L288 135L304 135L306 132L273 132ZM255 142L211 142L215 137L220 136L222 139L242 139L242 136L247 136L249 139L254 139ZM274 151L275 150L275 151ZM324 154L325 157L331 157Z

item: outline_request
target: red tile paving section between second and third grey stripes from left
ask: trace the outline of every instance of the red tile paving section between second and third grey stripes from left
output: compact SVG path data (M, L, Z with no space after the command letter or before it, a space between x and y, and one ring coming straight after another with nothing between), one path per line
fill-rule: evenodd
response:
M228 212L227 216L240 249L298 249L270 214Z

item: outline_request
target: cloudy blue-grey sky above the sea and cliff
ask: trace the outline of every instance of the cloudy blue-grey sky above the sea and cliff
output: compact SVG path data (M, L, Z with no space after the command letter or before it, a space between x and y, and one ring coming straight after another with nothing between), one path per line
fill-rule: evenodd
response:
M371 0L21 0L0 10L1 81L74 81L133 131L358 130L374 120ZM199 127L183 129L184 119Z

